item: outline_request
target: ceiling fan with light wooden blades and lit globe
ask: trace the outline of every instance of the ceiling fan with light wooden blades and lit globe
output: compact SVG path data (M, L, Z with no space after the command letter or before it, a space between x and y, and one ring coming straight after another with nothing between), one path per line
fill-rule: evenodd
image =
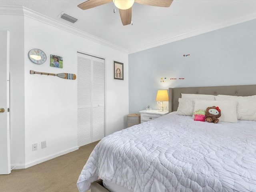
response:
M150 6L170 7L173 0L88 0L78 5L82 10L94 8L110 2L114 2L119 8L120 18L123 25L129 25L132 22L132 5L134 2Z

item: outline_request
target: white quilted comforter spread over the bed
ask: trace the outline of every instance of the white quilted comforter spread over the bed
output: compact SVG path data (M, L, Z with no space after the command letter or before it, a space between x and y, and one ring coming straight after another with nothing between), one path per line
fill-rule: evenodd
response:
M103 138L78 178L80 192L98 177L133 192L256 192L256 122L175 113Z

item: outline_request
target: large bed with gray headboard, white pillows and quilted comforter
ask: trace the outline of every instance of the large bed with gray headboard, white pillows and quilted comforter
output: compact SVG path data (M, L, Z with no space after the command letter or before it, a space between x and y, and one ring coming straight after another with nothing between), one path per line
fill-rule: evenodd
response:
M169 99L169 114L97 144L80 192L256 192L256 85L169 88ZM220 122L194 120L212 104Z

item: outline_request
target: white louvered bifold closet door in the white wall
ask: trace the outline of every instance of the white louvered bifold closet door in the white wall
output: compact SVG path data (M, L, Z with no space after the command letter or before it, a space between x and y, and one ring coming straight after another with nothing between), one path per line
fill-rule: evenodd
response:
M86 54L78 60L78 146L105 136L105 62Z

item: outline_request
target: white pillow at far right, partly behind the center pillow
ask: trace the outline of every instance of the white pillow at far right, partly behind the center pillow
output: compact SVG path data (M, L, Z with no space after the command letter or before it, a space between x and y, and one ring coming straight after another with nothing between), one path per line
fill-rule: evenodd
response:
M218 95L216 100L236 101L236 115L238 120L256 121L256 95L254 96L230 96Z

